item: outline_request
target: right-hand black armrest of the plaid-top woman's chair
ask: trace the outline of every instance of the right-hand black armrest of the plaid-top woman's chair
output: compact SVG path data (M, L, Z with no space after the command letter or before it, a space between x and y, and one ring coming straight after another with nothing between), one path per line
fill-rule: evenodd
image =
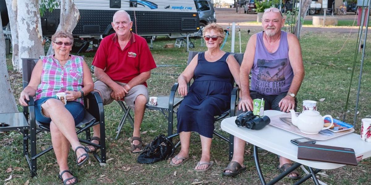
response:
M84 97L86 110L95 117L97 121L104 121L104 109L101 95L92 91Z

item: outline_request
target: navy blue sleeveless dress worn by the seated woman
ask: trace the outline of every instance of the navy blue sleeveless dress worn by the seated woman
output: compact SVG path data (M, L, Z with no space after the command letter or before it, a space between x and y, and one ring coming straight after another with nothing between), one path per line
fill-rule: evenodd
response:
M205 53L198 54L194 82L178 108L178 133L194 131L213 138L214 116L230 106L234 79L226 62L228 55L209 62Z

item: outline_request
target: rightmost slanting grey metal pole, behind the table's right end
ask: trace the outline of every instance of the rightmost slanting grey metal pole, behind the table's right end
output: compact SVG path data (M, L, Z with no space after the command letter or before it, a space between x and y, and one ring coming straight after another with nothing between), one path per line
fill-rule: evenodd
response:
M367 5L367 14L370 12L370 6L371 6L371 0L368 0L368 5ZM365 9L364 9L365 10ZM365 11L362 12L362 16L366 16ZM355 103L355 114L354 114L354 120L353 120L353 125L355 127L355 122L357 120L357 112L358 112L358 102L359 102L359 91L361 90L361 78L362 78L362 68L363 68L363 61L365 58L365 50L366 50L366 40L367 40L367 32L368 32L368 21L370 19L370 16L367 15L367 20L366 20L366 30L365 30L365 39L363 40L363 49L362 49L362 57L361 57L361 69L359 70L359 79L358 79L358 89L357 89L357 100ZM363 25L363 23L361 24ZM363 26L362 26L363 28Z

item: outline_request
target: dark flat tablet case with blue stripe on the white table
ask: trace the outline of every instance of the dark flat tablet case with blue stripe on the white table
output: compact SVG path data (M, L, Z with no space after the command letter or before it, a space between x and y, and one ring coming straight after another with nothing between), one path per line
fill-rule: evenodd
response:
M310 143L299 143L298 159L331 162L357 166L352 148L332 147Z

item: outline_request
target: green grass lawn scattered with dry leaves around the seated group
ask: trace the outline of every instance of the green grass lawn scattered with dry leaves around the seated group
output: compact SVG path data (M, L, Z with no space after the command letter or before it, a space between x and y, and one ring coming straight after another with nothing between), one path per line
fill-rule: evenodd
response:
M257 33L260 30L253 30L250 33ZM246 47L250 35L242 30L242 51ZM342 117L344 113L345 101L347 98L349 81L351 77L354 53L356 51L357 35L351 34L344 48L340 50L348 34L339 33L312 33L306 32L301 36L301 47L306 75L298 93L299 107L303 100L315 100L318 102L318 111L322 115L330 114L334 118ZM238 37L237 37L238 38ZM200 40L192 39L195 48L191 50L205 51L206 47L200 46ZM154 42L154 48L151 50L157 65L170 65L158 67L152 70L151 78L147 81L151 96L168 95L171 86L177 81L180 74L187 64L185 48L164 48L165 44L175 43L174 39L158 38ZM370 45L368 41L368 46ZM224 51L230 51L230 38L224 46ZM235 50L239 51L238 39L236 39ZM360 132L360 119L370 117L371 115L371 65L368 65L371 52L367 47L366 58L362 74L362 86L359 101L359 114L355 125L355 133ZM86 61L91 65L94 53L84 53ZM352 122L355 108L355 98L357 90L357 81L359 73L359 57L355 65L354 80L351 85L350 104L348 107L347 122ZM10 70L10 82L15 93L16 100L19 98L19 92L22 90L22 75L11 71L12 67L10 56L7 56L7 63ZM319 101L325 98L324 101ZM20 107L19 107L20 108ZM118 140L115 140L116 127L121 119L122 112L119 105L113 102L104 107L106 120L106 144L107 144L107 166L101 167L93 156L88 164L82 168L76 166L76 157L73 152L69 155L70 170L79 178L80 184L260 184L257 177L255 164L252 157L252 145L245 148L245 162L247 171L238 175L236 178L224 177L221 172L228 164L228 144L218 137L214 137L211 148L211 159L216 161L209 171L197 173L193 171L194 166L200 160L201 146L200 138L195 133L191 136L190 160L179 167L171 167L169 160L157 162L155 164L138 164L136 159L138 154L129 152L128 138L132 135L130 124L125 124ZM216 129L220 131L220 123L216 123ZM174 126L175 128L175 126ZM167 133L167 120L157 111L146 111L144 121L141 127L142 139L149 143L158 134ZM225 133L224 133L225 134ZM39 138L37 148L47 148L50 142L50 134L42 134ZM227 136L227 134L225 134ZM277 136L279 137L279 136ZM174 141L178 141L175 138ZM17 132L0 133L0 183L7 185L20 185L29 181L32 185L60 184L57 178L58 165L55 155L49 152L37 159L38 175L30 178L26 159L22 155L22 135ZM176 149L175 153L178 153ZM275 154L265 150L259 150L260 164L266 180L273 179L279 172L276 169L278 160ZM318 175L321 181L332 185L367 185L371 181L371 159L361 161L358 166L344 166L334 170L325 170L326 175ZM7 169L10 169L6 171ZM301 170L299 173L303 174ZM9 178L9 181L4 181ZM294 181L285 178L278 184L293 184ZM311 180L304 183L312 184Z

